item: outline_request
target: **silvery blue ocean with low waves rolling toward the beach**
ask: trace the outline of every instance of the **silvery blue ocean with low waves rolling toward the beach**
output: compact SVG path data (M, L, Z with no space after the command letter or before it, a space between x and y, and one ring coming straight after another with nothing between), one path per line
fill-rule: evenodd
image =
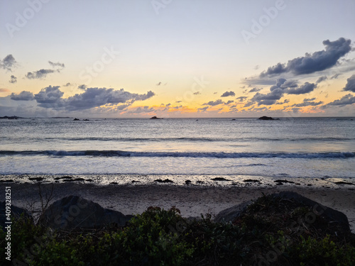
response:
M0 120L0 174L354 178L354 118Z

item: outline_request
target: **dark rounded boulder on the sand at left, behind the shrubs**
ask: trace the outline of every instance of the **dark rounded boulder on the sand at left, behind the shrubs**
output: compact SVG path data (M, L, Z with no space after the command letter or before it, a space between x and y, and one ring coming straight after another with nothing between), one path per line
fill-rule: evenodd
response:
M119 211L104 209L80 196L67 196L50 205L40 216L39 223L53 229L101 228L112 223L125 226L131 217Z

